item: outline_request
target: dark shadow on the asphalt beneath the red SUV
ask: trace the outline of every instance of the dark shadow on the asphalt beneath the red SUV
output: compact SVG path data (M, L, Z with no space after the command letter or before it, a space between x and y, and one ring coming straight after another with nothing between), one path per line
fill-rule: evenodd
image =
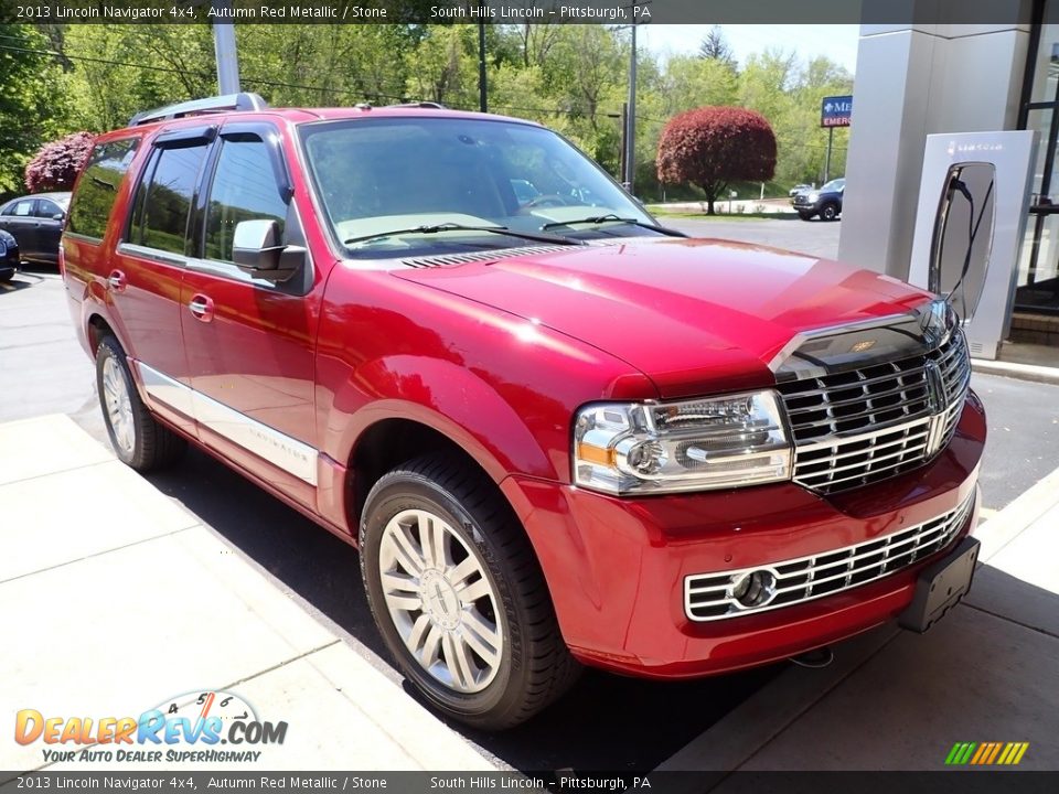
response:
M148 476L228 543L389 664L354 548L205 453ZM450 723L501 762L533 771L650 771L741 702L782 665L696 682L655 683L586 670L563 700L504 733ZM394 680L402 677L387 668ZM418 699L407 683L406 691Z

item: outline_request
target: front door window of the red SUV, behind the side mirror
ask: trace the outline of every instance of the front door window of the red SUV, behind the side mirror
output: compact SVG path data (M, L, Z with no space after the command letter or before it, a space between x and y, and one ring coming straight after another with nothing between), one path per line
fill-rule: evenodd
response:
M206 210L206 258L233 261L232 237L240 221L276 221L282 233L286 217L268 147L258 138L225 140Z

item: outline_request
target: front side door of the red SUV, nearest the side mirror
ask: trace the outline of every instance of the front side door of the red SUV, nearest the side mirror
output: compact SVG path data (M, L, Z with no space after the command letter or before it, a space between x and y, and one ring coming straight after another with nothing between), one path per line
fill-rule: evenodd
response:
M279 131L261 121L221 130L197 201L181 292L181 326L201 440L299 502L315 506L313 347L320 307L308 255L279 282L236 267L235 227L277 224L304 246ZM322 286L320 287L322 289Z

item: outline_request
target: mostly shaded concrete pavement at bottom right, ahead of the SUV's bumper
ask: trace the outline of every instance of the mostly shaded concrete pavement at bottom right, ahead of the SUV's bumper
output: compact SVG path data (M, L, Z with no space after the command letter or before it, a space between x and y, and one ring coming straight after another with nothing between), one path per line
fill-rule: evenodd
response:
M790 667L659 769L941 770L955 742L1026 741L1019 769L1059 770L1059 470L975 535L971 593L930 632Z

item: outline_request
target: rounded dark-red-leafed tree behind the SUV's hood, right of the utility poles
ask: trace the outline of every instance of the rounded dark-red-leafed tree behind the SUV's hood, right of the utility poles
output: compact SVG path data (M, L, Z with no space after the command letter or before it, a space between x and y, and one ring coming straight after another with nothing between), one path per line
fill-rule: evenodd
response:
M734 107L702 107L670 119L659 140L659 180L691 182L706 193L708 213L731 182L764 182L775 172L775 136L764 116Z

